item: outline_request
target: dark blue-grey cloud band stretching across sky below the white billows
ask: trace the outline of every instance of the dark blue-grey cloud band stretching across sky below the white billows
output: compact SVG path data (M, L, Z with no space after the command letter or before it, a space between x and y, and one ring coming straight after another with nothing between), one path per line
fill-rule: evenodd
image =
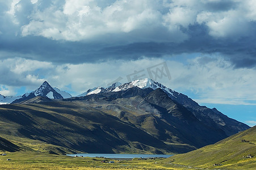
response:
M190 39L174 42L136 42L125 45L105 45L86 42L54 41L44 37L19 37L5 40L0 49L6 57L24 57L54 63L99 62L109 59L138 59L141 56L162 57L181 53L222 53L236 67L254 67L256 64L255 35L239 40L214 39L207 28L194 25L188 28ZM0 36L1 37L1 36Z

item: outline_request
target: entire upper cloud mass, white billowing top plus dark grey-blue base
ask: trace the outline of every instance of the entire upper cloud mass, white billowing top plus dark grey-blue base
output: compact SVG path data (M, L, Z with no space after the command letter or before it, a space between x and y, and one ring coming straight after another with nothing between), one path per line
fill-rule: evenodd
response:
M129 1L129 6L123 1L39 2L22 0L12 11L10 3L1 3L1 59L83 63L220 53L235 67L256 66L253 1ZM66 7L68 2L74 6ZM175 20L184 12L188 18Z

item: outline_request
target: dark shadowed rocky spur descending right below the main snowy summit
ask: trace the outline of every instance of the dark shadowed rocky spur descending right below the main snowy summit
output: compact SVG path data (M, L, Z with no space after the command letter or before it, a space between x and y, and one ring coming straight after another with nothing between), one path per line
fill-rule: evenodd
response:
M171 100L160 88L146 96L145 101L162 110L162 113L165 113L162 119L177 128L192 146L199 148L227 137L224 131L205 126L194 114Z

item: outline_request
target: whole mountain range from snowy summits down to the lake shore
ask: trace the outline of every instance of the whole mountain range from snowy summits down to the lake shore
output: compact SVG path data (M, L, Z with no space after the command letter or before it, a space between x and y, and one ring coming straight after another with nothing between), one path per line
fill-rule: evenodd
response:
M2 135L91 153L184 153L249 128L151 79L93 88L78 97L44 82L1 105L0 117Z

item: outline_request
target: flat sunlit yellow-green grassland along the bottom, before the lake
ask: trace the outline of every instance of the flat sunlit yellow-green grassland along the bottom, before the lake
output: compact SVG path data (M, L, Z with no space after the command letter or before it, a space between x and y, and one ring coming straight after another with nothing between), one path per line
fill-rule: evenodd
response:
M182 169L156 160L113 160L107 158L75 158L29 151L6 153L0 156L1 169ZM11 160L7 160L11 159ZM102 163L102 160L114 163Z

